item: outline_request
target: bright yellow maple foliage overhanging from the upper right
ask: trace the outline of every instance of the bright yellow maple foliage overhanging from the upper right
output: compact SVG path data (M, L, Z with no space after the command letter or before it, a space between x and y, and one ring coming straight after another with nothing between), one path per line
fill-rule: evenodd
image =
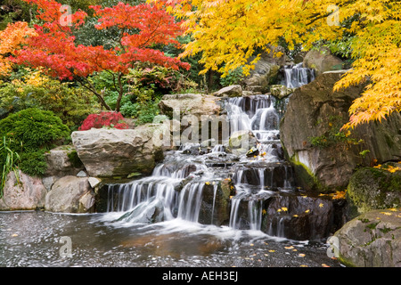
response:
M163 1L163 0L153 0ZM394 0L164 0L184 19L192 42L182 56L201 53L205 73L244 75L262 51L284 40L289 48L312 48L317 41L355 35L352 69L334 90L366 82L349 109L345 127L386 118L401 110L401 1ZM351 22L345 25L344 22ZM280 56L281 54L276 54Z

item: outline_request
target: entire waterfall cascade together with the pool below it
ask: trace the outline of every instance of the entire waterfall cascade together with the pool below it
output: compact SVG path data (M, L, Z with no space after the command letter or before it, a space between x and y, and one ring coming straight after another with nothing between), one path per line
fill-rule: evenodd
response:
M275 105L269 95L227 99L229 134L254 134L252 153L234 154L228 137L183 144L152 175L107 185L104 213L1 213L0 266L340 266L324 242L266 224L266 200L297 192ZM71 240L69 257L61 237Z

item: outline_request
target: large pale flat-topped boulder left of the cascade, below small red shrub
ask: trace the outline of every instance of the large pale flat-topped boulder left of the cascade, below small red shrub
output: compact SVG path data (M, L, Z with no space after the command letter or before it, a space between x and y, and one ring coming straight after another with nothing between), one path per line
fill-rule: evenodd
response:
M71 138L88 175L124 178L132 173L151 174L163 158L160 129L160 125L124 130L93 128L73 132Z

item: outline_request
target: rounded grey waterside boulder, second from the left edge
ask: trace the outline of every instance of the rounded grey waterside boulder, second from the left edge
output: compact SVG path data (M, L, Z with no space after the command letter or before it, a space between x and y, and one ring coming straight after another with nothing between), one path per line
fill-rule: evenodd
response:
M94 210L95 194L87 177L64 176L45 196L45 210L60 213L88 213Z

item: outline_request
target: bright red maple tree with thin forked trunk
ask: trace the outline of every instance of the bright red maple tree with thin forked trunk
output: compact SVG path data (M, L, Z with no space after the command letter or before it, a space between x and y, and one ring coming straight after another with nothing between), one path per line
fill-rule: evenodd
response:
M111 110L110 106L87 78L94 72L107 70L115 74L114 85L118 86L119 92L116 111L119 111L123 96L122 77L134 67L135 62L148 61L173 69L190 67L188 63L152 48L155 45L179 45L176 37L183 33L180 23L163 9L162 4L132 6L120 2L105 8L90 6L94 17L98 18L94 28L119 29L119 45L105 49L102 45L76 43L73 30L85 24L86 12L67 14L54 0L23 1L37 4L37 19L42 24L35 25L37 36L29 37L27 45L16 52L12 61L33 68L44 67L53 77L78 81L98 97L106 110ZM68 25L62 24L65 22Z

